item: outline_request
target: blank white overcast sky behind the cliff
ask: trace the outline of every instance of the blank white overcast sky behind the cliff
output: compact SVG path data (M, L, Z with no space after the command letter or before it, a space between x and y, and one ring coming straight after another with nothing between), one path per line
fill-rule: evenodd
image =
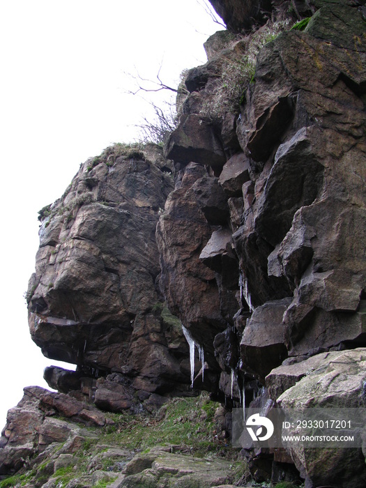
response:
M125 93L135 70L176 84L206 62L222 27L197 0L0 2L0 429L22 388L45 386L23 298L38 248L38 210L59 198L80 162L133 142L148 113ZM158 102L160 98L154 99Z

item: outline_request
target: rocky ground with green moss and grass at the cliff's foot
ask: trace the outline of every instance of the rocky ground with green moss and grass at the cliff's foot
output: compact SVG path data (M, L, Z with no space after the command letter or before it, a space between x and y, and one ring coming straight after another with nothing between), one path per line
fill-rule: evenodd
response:
M66 411L67 401L59 403L63 411L51 409L49 395L26 388L9 412L8 429L24 465L0 481L1 488L212 487L251 479L238 449L225 439L225 409L207 394L173 399L155 415L75 414L70 405Z

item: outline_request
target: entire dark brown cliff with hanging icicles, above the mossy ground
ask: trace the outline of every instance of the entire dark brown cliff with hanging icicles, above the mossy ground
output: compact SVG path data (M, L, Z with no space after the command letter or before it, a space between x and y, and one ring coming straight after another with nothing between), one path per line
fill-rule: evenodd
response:
M56 413L107 425L100 409L199 390L228 410L366 406L365 7L211 3L229 30L178 89L164 151L107 148L40 212L31 336L77 370L9 411L1 473ZM363 487L363 452L242 455L257 480Z

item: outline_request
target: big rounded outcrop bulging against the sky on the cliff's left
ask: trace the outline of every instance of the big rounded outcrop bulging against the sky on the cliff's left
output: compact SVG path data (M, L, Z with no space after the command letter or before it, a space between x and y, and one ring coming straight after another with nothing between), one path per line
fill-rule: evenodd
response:
M116 145L86 161L43 215L28 291L31 336L45 356L77 365L68 374L74 383L84 377L66 390L62 379L50 379L59 390L91 398L97 390L96 403L106 406L107 383L91 380L128 374L124 398L116 381L121 401L111 408L118 410L130 408L129 388L186 389L188 346L155 287L155 227L172 185L158 146Z

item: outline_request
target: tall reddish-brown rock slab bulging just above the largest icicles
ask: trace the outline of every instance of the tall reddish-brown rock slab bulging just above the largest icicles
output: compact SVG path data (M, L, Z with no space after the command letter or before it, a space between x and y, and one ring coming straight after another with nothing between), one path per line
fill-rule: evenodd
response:
M190 329L197 343L204 344L205 358L210 362L213 337L224 328L224 320L215 274L199 260L212 234L192 189L202 176L204 168L200 165L190 163L185 168L181 188L167 199L156 239L162 266L160 287L169 309Z

